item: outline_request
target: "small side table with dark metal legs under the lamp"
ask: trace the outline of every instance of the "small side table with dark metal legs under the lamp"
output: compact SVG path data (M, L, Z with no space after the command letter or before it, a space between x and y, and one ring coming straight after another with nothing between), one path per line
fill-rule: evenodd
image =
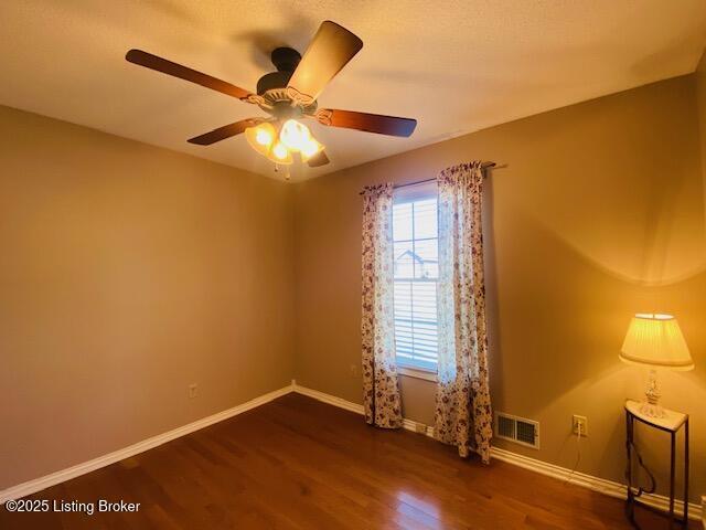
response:
M686 528L688 524L688 414L667 411L665 409L664 417L650 417L640 412L641 405L642 403L638 401L625 401L625 425L628 428L628 437L625 441L625 447L628 449L628 468L625 470L625 478L628 479L628 500L625 501L625 513L630 522L637 527L634 519L634 507L635 505L638 505L652 509L651 506L645 505L643 501L641 501L640 497L642 496L642 494L653 494L656 487L654 475L652 475L652 473L650 473L650 470L642 463L642 457L640 456L638 447L634 443L634 422L635 420L638 420L645 425L670 433L672 442L672 452L670 458L670 528L672 528L673 522L677 522ZM674 517L674 477L676 470L676 434L682 428L682 426L684 427L684 517L677 519ZM646 489L638 486L635 491L635 488L633 488L632 486L633 455L638 459L640 467L642 467L650 477L651 485ZM664 515L663 512L659 513Z

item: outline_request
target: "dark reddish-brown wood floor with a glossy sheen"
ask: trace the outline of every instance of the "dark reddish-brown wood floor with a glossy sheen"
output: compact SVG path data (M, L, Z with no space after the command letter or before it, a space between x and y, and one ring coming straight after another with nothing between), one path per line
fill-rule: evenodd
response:
M289 394L35 499L135 513L8 513L9 529L628 529L622 502ZM649 512L643 528L666 528ZM696 528L696 526L694 527Z

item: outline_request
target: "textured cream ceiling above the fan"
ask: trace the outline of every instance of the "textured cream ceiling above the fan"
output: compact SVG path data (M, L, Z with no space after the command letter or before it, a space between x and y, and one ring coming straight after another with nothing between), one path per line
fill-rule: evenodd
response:
M0 104L272 177L245 138L186 138L255 106L124 60L130 47L255 89L269 52L303 52L333 20L363 50L320 106L419 120L411 138L312 124L332 163L306 179L480 128L693 72L704 0L6 0Z

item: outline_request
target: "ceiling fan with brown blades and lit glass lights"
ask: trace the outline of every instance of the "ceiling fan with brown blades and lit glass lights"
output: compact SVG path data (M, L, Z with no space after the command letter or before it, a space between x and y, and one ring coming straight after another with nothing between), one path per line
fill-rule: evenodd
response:
M257 82L257 94L182 66L141 50L130 50L125 59L130 63L205 86L259 106L269 116L242 119L190 138L188 141L210 146L245 132L250 146L276 165L292 163L292 152L315 168L329 163L322 146L309 128L298 121L313 118L321 125L409 137L416 119L318 108L317 98L329 82L363 47L363 41L345 28L327 20L311 40L303 57L291 47L278 47L271 53L277 72L265 74Z

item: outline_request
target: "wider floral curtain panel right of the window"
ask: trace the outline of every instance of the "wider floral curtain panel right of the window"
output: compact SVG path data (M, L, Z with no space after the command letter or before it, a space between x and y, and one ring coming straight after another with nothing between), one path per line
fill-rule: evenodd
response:
M435 437L490 459L480 161L443 170L439 188L439 368Z

